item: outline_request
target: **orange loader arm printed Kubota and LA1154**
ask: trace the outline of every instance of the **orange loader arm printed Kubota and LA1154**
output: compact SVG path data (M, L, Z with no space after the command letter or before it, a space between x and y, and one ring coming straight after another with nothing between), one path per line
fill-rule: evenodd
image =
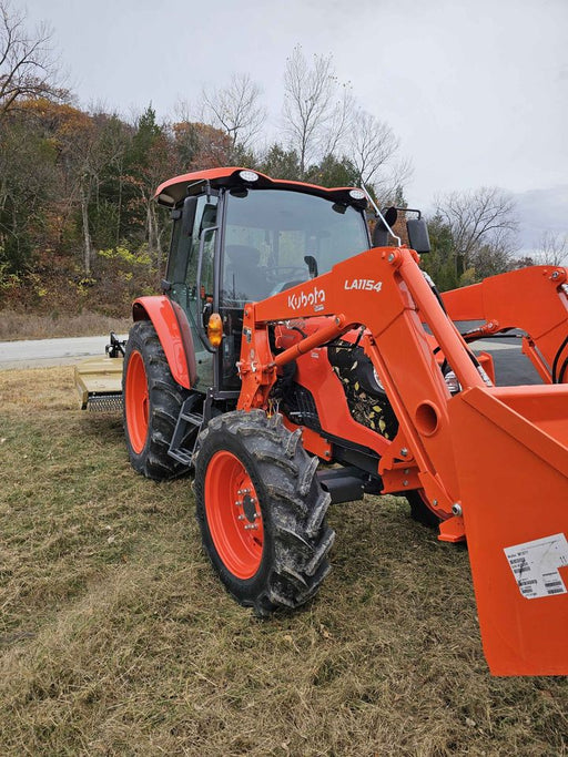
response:
M291 318L329 316L328 325L277 356L267 325ZM465 342L424 279L415 253L374 248L329 273L245 307L239 407L266 407L280 365L364 324L367 352L399 422L382 460L381 474L404 463L443 516L459 499L447 405L450 393L433 354L425 320L463 386L483 386ZM390 488L394 491L399 487Z

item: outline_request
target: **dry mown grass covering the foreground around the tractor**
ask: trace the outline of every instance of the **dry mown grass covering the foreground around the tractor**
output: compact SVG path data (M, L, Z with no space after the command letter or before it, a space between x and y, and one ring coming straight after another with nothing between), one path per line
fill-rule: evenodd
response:
M1 755L568 755L568 679L489 676L467 552L404 500L334 509L317 599L257 621L71 376L0 374Z

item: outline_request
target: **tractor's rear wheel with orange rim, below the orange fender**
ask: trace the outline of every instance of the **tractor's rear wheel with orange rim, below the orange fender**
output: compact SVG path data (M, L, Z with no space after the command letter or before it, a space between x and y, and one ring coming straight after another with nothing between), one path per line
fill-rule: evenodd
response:
M132 468L163 481L189 469L168 454L182 403L190 390L173 378L150 320L130 330L122 374L123 423Z

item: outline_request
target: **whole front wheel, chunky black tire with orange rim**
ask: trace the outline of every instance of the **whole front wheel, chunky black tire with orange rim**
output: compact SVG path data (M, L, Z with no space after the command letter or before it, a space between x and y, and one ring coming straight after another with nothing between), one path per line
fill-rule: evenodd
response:
M194 485L203 545L227 591L260 616L304 604L329 572L331 498L316 468L280 415L227 412L200 434Z

